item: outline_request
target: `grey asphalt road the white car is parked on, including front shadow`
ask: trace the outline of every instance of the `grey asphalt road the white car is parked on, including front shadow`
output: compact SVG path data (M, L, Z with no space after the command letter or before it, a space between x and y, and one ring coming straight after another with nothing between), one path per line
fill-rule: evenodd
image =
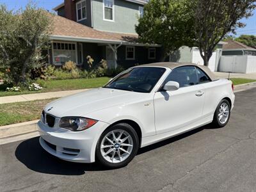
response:
M256 191L256 89L230 122L141 148L125 168L61 161L38 138L0 146L0 191Z

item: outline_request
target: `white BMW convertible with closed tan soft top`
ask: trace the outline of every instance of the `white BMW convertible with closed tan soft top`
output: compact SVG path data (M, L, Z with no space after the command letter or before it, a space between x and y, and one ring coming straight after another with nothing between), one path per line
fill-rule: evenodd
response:
M207 67L140 65L102 88L47 104L38 122L40 144L67 161L118 168L140 147L205 124L225 126L234 99L232 82Z

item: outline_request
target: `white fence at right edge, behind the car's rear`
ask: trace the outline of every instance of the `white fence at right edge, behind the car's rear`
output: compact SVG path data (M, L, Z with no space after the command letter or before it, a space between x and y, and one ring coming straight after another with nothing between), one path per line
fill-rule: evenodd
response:
M221 56L220 72L243 74L256 72L256 56Z

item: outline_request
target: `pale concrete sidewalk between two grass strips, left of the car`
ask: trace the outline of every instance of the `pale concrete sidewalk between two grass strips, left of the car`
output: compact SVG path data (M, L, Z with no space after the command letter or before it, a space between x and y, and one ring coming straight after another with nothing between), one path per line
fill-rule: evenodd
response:
M40 100L40 99L51 99L51 98L65 97L68 95L72 95L74 93L84 92L86 90L89 90L89 89L6 96L6 97L0 97L0 104L10 103L10 102L24 102L24 101L29 101L29 100Z

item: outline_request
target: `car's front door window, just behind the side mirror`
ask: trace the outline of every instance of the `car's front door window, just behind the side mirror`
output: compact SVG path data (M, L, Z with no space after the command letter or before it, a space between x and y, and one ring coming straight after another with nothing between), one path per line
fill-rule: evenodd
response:
M196 69L193 66L174 68L164 83L168 81L176 81L180 84L180 88L198 84Z

